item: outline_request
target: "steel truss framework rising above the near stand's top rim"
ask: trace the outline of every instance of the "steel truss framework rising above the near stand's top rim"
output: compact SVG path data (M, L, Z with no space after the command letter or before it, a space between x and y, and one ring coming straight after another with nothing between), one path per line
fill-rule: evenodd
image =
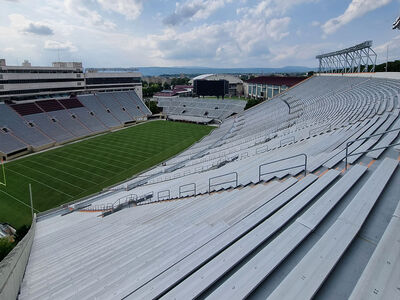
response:
M318 55L319 73L375 72L376 53L371 49L372 41L343 50ZM372 68L368 69L368 66Z

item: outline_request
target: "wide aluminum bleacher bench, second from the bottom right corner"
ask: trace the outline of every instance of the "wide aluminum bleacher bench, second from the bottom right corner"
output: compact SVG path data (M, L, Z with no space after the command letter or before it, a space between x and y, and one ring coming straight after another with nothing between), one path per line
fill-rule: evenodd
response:
M357 235L398 161L386 158L335 223L303 257L268 299L311 299Z

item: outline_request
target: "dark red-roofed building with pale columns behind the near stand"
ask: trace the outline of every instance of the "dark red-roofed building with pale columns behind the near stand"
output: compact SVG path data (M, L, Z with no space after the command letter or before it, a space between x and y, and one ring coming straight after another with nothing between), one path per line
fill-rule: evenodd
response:
M300 83L305 77L259 76L244 82L246 98L270 99Z

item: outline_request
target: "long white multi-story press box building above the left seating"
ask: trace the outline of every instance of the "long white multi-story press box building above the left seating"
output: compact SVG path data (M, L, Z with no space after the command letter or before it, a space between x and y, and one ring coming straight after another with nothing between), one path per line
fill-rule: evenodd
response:
M142 98L141 74L135 69L89 69L81 62L54 62L52 66L9 66L0 59L0 101L65 97L71 93L135 90Z

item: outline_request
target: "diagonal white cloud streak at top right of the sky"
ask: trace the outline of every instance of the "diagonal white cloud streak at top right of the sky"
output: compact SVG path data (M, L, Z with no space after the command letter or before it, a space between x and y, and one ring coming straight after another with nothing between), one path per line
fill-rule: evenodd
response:
M332 34L352 20L389 4L391 1L392 0L352 0L345 12L336 18L328 20L322 25L322 30L325 34Z

